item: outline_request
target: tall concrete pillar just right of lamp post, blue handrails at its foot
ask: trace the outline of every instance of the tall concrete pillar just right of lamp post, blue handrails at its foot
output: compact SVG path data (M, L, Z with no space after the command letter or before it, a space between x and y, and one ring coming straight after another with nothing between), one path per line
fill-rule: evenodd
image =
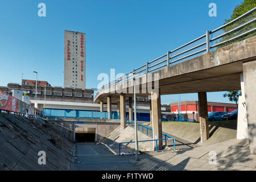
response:
M152 107L152 129L154 139L162 139L162 117L161 117L161 100L160 92L158 96L156 93L151 92L151 107ZM156 98L157 97L157 98ZM156 142L153 141L154 150L156 148ZM162 150L163 141L158 141L158 150Z

